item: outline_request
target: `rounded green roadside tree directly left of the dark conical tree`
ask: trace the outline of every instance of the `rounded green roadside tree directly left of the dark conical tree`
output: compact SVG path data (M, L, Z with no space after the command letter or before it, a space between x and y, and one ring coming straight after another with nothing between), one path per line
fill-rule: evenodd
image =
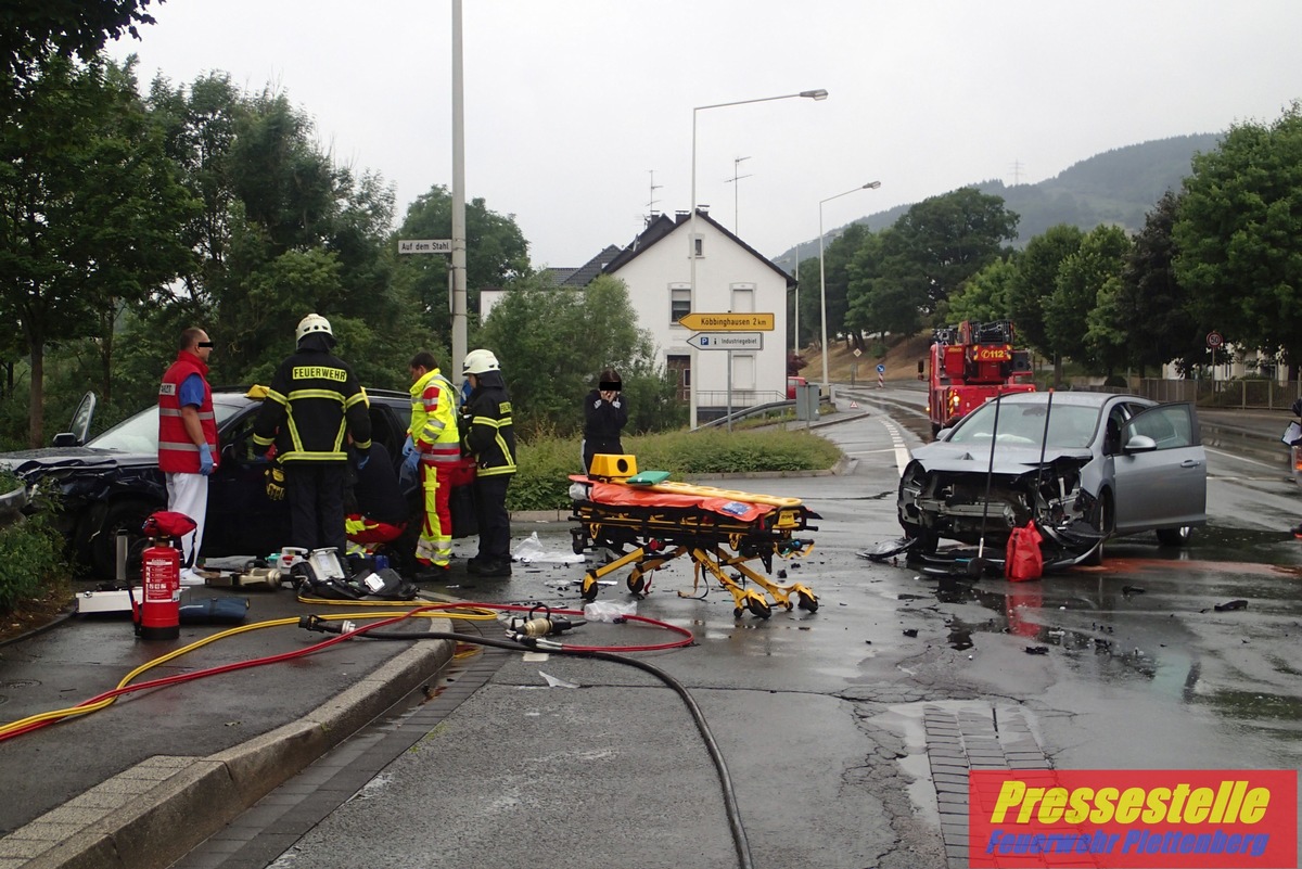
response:
M1091 340L1090 312L1098 306L1105 285L1120 280L1129 250L1125 230L1104 225L1086 234L1079 250L1062 260L1053 294L1044 302L1044 328L1057 354L1086 366L1116 364L1115 341L1101 334L1101 327Z

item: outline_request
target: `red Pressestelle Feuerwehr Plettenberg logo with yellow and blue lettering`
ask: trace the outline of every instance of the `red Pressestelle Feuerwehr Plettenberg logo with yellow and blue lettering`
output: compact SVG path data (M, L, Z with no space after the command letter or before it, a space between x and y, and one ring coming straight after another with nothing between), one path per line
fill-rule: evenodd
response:
M983 866L1295 869L1295 770L973 770Z

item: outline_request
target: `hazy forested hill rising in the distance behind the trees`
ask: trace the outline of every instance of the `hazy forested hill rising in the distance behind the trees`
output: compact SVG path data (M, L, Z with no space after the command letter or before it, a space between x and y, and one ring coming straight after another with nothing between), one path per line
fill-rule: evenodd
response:
M984 194L1003 196L1006 208L1021 216L1014 242L1017 247L1057 224L1072 224L1088 232L1099 224L1112 222L1138 232L1143 229L1144 215L1161 194L1180 190L1181 180L1190 172L1194 154L1213 150L1221 135L1178 135L1113 148L1081 160L1039 183L1008 186L1003 181L980 181L969 186ZM941 193L948 191L937 195ZM854 222L876 232L894 224L909 208L907 204L897 206L859 217ZM831 242L840 232L840 228L829 232L825 241ZM805 251L811 250L807 242L802 242L802 246ZM773 261L789 268L796 263L794 252L793 247Z

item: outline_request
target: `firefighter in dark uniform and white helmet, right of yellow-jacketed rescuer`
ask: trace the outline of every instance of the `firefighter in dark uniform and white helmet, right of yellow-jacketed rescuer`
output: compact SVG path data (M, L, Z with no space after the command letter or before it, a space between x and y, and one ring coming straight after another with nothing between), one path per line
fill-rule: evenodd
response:
M466 570L479 576L510 576L510 514L506 487L516 474L516 429L510 397L497 356L488 350L466 354L461 373L470 381L470 397L461 410L461 438L475 458L475 518L479 554Z

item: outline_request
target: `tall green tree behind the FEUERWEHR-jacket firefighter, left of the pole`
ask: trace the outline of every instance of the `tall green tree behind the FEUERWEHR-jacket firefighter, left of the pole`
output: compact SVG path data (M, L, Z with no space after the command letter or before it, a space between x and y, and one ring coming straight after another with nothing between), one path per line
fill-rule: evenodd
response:
M392 280L392 187L335 165L284 95L240 94L223 73L189 88L156 79L150 104L203 208L185 233L198 264L182 291L138 324L142 353L165 354L151 336L171 340L201 323L217 343L214 376L258 380L293 350L294 324L316 311L363 382L405 388L406 363L428 340Z

